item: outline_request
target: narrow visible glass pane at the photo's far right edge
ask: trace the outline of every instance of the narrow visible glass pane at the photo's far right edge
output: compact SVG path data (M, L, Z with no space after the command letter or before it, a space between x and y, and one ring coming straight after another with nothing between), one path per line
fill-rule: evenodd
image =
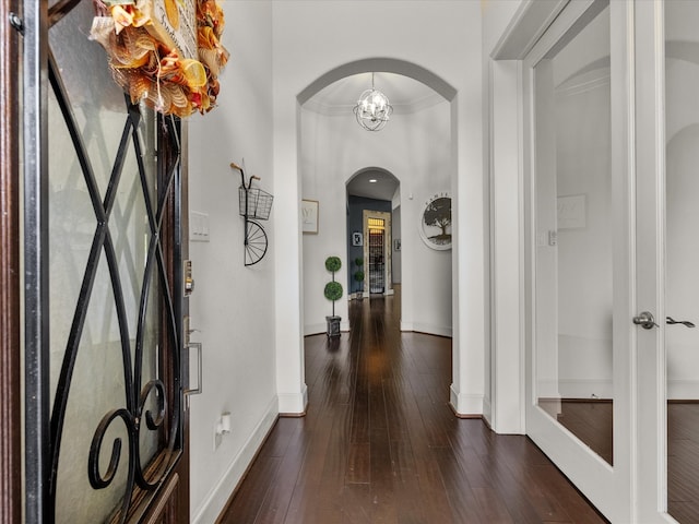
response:
M665 2L664 16L667 511L690 523L699 520L699 3Z

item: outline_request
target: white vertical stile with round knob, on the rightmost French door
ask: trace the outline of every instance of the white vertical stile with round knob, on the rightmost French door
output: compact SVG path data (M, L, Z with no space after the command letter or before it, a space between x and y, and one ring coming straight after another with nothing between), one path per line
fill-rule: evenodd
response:
M636 2L636 265L637 312L665 319L666 133L665 23L660 0ZM660 325L659 325L660 324ZM639 522L677 522L667 513L667 374L664 321L637 329ZM642 406L642 408L641 408ZM642 461L641 456L655 460Z

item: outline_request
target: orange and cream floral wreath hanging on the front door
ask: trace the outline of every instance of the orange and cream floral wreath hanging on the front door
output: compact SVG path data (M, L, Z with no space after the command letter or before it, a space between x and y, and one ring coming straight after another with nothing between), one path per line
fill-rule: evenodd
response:
M178 117L214 108L218 73L228 61L221 44L223 10L216 0L94 0L94 4L91 37L107 51L114 79L132 103L144 100ZM187 56L187 43L176 38L180 27L187 36L188 14L196 17L196 28L190 28L196 31L189 50L193 56Z

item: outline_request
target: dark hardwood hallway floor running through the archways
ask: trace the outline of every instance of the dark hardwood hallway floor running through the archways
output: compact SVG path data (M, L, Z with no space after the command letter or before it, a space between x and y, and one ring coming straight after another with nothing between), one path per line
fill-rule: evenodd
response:
M401 333L396 297L306 338L308 413L281 418L220 523L606 522L526 438L448 406L451 340Z

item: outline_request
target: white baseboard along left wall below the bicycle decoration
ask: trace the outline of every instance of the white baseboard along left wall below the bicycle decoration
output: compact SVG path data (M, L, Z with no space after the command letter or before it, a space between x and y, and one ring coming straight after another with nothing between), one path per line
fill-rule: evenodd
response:
M193 524L211 524L212 522L216 522L226 502L228 502L233 490L242 479L245 472L264 442L264 438L270 432L272 426L274 426L279 415L277 406L277 400L274 398L218 484L213 487L201 507L198 508L196 512L192 512L194 516L191 522Z

